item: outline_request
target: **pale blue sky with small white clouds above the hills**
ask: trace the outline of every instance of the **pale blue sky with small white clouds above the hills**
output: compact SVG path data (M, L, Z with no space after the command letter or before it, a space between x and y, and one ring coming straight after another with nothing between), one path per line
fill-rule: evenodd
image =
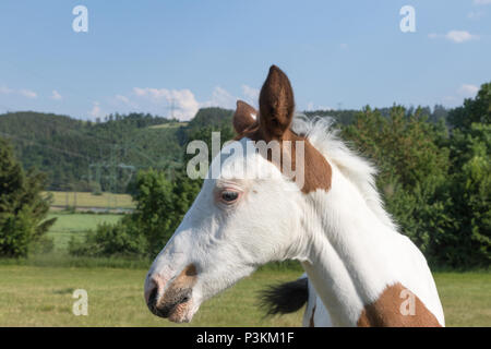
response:
M300 111L455 107L491 81L491 0L0 2L0 112L184 121L256 106L271 64Z

